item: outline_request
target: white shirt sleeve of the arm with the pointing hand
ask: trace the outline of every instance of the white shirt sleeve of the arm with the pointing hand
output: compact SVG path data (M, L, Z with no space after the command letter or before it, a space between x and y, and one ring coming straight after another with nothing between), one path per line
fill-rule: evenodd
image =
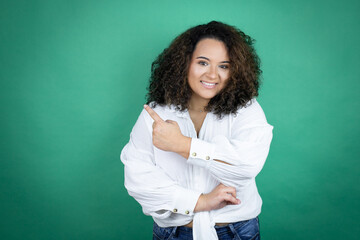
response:
M239 113L230 138L217 135L210 142L192 138L188 163L207 168L227 186L246 186L265 163L272 129L255 101Z

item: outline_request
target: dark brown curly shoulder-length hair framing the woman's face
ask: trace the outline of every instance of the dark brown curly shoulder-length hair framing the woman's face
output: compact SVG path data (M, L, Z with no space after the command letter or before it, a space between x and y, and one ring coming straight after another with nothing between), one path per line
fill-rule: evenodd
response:
M225 87L214 96L205 110L220 118L235 113L258 96L260 59L253 47L254 39L236 27L212 21L192 27L176 37L151 66L147 104L175 105L188 108L192 90L187 81L189 64L196 44L205 38L225 44L230 60L230 77Z

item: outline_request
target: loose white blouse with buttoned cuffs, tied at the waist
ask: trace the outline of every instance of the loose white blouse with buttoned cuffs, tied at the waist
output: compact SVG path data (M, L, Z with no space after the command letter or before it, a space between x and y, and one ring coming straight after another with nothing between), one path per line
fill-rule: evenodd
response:
M215 223L254 218L262 200L255 177L267 158L272 129L253 99L237 114L218 119L207 113L199 137L187 111L174 106L154 108L164 120L176 121L183 135L191 137L190 156L160 150L152 144L153 119L143 110L121 152L125 165L125 187L160 227L182 226L193 221L194 239L218 239ZM217 160L224 161L222 163ZM219 183L236 188L239 205L196 212L201 193Z

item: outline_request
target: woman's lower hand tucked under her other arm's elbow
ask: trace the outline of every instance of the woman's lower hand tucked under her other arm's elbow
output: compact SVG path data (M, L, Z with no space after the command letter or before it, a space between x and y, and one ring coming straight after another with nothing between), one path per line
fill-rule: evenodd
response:
M194 212L211 211L237 204L240 204L240 200L236 198L236 189L220 183L210 193L200 195Z

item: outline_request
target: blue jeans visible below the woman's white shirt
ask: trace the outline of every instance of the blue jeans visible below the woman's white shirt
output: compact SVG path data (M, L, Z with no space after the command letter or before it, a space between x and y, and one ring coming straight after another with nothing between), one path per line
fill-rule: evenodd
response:
M215 226L219 240L260 240L259 218ZM153 240L192 240L192 228L159 227L154 222Z

